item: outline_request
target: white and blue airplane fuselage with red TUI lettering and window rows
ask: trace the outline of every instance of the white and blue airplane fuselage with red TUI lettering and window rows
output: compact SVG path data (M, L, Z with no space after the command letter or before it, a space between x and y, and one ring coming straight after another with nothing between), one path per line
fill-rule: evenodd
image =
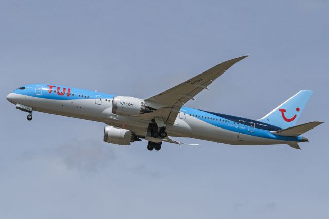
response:
M139 138L147 136L150 120L142 116L112 113L115 95L48 84L30 84L14 90L8 101L25 111L75 117L103 122L131 130ZM181 107L175 122L167 124L168 136L190 137L234 145L265 145L302 142L302 136L282 136L282 127L242 117Z

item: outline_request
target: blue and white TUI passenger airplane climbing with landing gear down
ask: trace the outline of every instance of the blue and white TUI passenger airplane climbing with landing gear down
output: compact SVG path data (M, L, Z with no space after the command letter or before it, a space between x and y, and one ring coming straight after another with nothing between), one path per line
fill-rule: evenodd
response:
M161 149L162 142L185 143L172 137L189 137L231 145L288 144L300 149L307 142L302 134L323 122L296 125L310 90L301 90L260 119L214 113L184 105L224 74L241 56L222 62L202 74L149 98L139 99L93 92L54 84L29 84L7 96L17 109L92 120L105 123L104 141L130 145L145 139L147 149ZM187 144L198 145L198 144Z

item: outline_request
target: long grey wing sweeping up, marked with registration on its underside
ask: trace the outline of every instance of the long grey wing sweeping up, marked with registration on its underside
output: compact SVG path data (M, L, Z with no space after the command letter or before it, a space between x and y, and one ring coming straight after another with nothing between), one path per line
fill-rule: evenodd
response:
M175 87L172 87L165 92L157 94L153 97L145 99L148 106L158 105L155 107L161 109L156 114L161 116L166 123L173 124L180 111L180 108L189 100L195 100L194 96L201 92L203 89L208 89L208 86L232 65L246 58L247 56L231 59L221 64L218 64L202 74L199 74L190 80L187 80ZM160 115L159 115L160 114Z

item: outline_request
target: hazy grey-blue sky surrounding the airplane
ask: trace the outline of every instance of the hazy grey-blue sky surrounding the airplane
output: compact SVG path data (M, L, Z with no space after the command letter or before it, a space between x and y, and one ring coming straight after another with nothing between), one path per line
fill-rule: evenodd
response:
M0 0L0 218L328 218L329 1ZM187 107L258 119L314 90L302 150L103 142L105 124L17 111L25 84L147 98L249 54Z

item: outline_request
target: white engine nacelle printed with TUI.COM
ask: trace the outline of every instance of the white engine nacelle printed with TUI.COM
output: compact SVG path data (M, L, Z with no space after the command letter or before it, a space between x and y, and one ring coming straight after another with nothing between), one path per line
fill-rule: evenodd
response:
M112 113L120 116L139 116L152 110L146 104L134 97L115 96L112 102Z

